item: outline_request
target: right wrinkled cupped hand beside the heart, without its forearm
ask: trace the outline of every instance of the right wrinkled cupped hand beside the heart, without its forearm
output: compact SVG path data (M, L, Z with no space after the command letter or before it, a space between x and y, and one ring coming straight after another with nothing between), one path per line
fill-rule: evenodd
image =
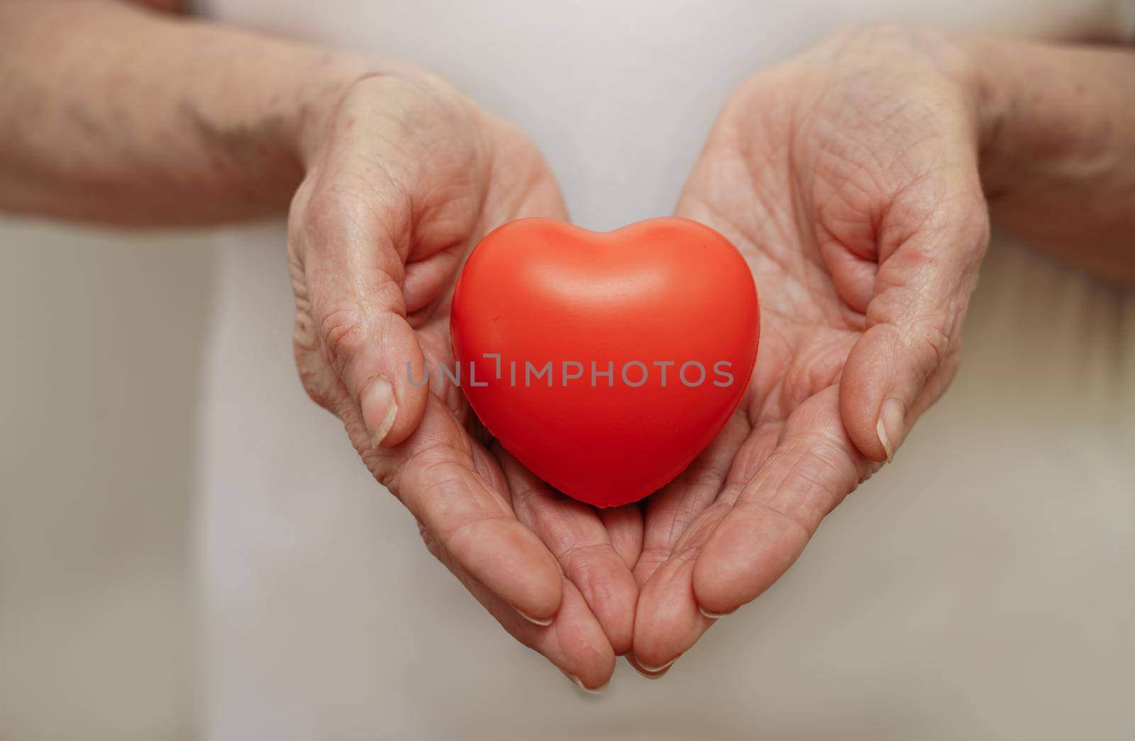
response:
M966 64L944 37L859 28L722 111L676 213L741 250L760 350L725 429L647 503L648 675L776 581L950 382L989 238Z

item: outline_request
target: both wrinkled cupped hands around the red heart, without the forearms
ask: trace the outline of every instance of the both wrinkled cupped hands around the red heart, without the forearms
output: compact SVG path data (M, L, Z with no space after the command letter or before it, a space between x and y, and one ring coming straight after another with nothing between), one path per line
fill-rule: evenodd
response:
M675 213L745 255L760 352L711 447L615 510L532 477L439 373L406 379L406 360L452 364L453 284L480 237L566 218L539 154L420 73L355 83L314 136L289 228L304 387L430 550L581 687L605 684L629 650L663 675L767 589L953 376L989 235L977 125L964 60L911 34L833 36L722 111ZM397 399L388 430L376 379Z

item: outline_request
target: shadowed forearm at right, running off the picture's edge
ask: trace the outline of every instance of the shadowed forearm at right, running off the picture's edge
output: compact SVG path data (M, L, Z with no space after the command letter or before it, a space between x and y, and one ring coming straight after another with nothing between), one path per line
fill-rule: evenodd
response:
M967 43L994 221L1135 281L1135 50Z

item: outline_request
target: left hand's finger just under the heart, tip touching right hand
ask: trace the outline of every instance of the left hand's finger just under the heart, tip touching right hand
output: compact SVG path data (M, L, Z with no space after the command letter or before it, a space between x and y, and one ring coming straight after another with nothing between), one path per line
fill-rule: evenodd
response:
M638 584L595 510L554 491L504 448L497 446L494 452L508 479L516 517L555 555L615 652L625 654L633 635Z

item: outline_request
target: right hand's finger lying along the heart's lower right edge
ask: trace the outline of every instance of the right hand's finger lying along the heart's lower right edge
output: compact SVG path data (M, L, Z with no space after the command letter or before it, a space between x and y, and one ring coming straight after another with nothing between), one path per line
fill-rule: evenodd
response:
M634 566L634 579L640 586L670 558L689 524L717 497L748 435L748 419L738 410L709 447L647 500L642 555Z

